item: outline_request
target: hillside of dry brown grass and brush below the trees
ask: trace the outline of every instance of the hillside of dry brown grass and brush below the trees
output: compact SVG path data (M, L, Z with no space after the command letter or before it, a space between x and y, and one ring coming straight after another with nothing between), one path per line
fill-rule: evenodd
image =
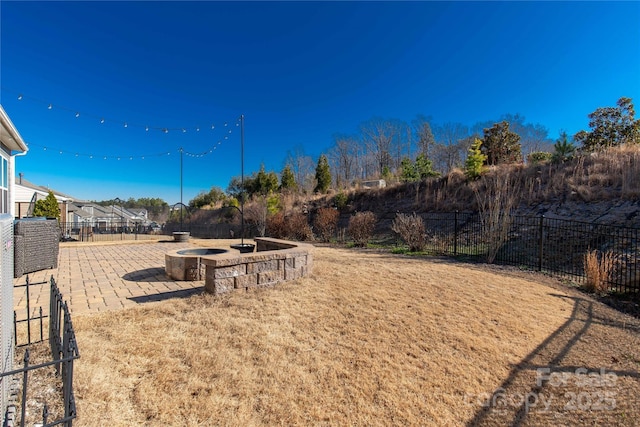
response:
M389 183L383 189L330 190L328 195L287 194L280 207L286 215L310 213L341 203L342 226L355 212L372 211L381 221L378 230L388 232L397 212L426 213L478 210L478 201L486 198L497 181L508 182L515 198L516 212L523 215L553 215L586 222L606 222L640 227L640 145L615 147L575 157L565 163L517 164L493 167L477 181L469 182L463 171L454 169L444 177L422 183L418 194L413 184ZM248 223L264 221L259 203L245 206ZM195 224L239 224L238 212L229 208L202 209L193 212ZM214 237L228 237L224 235Z

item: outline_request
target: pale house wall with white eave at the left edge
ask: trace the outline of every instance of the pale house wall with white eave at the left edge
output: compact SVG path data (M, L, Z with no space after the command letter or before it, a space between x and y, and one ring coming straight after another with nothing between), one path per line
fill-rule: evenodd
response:
M15 218L15 156L27 145L0 105L0 357L2 372L13 370L13 220ZM0 380L0 410L7 409L10 378Z

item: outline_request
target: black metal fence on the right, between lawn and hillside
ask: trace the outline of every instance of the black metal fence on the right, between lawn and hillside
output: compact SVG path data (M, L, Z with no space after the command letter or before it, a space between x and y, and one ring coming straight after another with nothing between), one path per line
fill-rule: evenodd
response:
M487 235L478 213L429 213L422 218L429 236L428 252L483 260L495 243L495 236ZM495 263L583 283L585 255L596 250L615 258L610 290L640 292L640 228L544 216L511 216L505 224L508 232L496 248Z

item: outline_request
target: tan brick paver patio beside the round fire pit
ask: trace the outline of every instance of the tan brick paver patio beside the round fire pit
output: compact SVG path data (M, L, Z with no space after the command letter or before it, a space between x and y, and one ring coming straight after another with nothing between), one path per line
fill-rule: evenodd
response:
M204 281L177 282L164 271L164 255L175 249L192 247L188 242L154 242L117 245L60 246L58 268L29 273L32 313L39 307L49 311L49 279L54 277L72 314L121 309L183 297L204 288ZM23 285L26 275L14 279ZM46 282L46 284L38 284ZM24 287L14 288L14 309L19 318L26 315Z

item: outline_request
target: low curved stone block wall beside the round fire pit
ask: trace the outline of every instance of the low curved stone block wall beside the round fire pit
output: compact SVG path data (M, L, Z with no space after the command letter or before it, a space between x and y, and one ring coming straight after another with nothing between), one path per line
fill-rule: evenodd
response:
M306 243L257 237L258 252L203 256L204 289L222 294L234 289L269 286L311 273L313 246Z

